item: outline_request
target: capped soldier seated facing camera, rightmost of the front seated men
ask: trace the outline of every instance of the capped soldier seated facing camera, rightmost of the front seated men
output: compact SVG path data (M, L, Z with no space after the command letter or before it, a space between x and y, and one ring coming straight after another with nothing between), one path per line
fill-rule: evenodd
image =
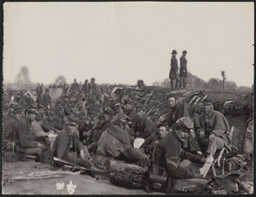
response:
M207 97L204 101L204 113L195 116L195 132L189 136L190 151L207 152L214 156L217 150L229 147L226 132L230 131L230 125L222 113L213 110L212 99Z

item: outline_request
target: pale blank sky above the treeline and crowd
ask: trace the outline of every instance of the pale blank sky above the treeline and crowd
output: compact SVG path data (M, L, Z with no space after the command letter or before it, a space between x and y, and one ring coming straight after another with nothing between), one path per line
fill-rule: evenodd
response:
M4 3L3 82L26 66L34 83L151 85L168 78L172 49L208 80L253 84L253 3Z

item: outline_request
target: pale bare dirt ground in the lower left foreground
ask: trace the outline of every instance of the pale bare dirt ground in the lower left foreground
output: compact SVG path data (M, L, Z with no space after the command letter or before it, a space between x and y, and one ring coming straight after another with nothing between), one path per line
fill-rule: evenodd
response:
M27 172L49 171L49 165L30 161L3 163L3 180L10 176L19 176ZM111 184L108 179L88 175L65 175L64 177L38 180L7 181L2 183L2 194L69 194L67 184L76 185L74 194L147 194L143 189L121 188ZM63 190L57 190L56 183L65 183ZM161 193L152 193L161 194Z

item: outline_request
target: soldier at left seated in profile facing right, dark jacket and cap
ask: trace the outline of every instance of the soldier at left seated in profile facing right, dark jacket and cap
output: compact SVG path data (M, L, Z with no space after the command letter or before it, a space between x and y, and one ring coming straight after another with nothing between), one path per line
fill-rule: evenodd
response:
M24 154L37 155L39 161L42 163L50 162L50 148L47 136L36 136L32 128L32 121L34 121L38 113L37 107L27 106L25 116L21 117L17 123L17 151L22 151Z

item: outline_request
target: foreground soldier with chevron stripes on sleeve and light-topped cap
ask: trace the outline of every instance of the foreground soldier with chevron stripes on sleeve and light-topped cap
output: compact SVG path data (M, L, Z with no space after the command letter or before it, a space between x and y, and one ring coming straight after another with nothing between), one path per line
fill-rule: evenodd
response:
M193 165L190 161L201 163L203 159L182 149L182 142L187 140L193 127L194 124L190 118L177 119L172 126L172 132L169 132L154 149L153 171L158 175L166 171L167 194L172 194L177 179L201 177L201 174L193 172Z

